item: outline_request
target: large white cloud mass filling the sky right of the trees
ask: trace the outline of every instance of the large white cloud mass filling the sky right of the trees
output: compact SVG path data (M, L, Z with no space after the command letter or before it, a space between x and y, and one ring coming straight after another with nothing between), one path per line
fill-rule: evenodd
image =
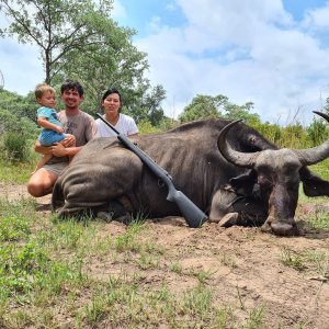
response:
M284 124L297 109L306 120L319 110L328 92L328 46L299 27L281 1L177 3L185 27L158 25L137 41L148 54L151 81L167 90L168 115L200 93L225 94L237 104L252 101L262 120L276 122L280 115Z

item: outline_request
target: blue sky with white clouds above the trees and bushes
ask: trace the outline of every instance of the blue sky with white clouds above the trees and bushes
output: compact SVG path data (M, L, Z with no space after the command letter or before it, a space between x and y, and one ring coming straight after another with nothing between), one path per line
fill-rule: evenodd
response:
M329 0L114 0L112 18L136 30L170 117L224 94L263 122L308 124L329 97ZM37 48L15 39L0 39L0 70L22 95L44 79Z

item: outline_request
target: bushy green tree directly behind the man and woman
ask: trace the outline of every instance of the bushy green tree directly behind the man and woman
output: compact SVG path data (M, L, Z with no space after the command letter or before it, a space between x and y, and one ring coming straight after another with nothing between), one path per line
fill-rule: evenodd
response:
M121 91L125 107L138 103L138 99L150 88L144 77L148 69L147 55L133 45L133 34L132 30L116 27L101 37L102 43L89 45L83 52L73 50L67 56L63 66L64 76L75 78L84 86L88 98L82 107L87 112L100 107L101 97L109 88L115 87Z

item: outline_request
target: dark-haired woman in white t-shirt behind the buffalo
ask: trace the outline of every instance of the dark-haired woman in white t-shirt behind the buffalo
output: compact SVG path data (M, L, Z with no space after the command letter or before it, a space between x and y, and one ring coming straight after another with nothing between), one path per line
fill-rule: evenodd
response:
M138 127L133 117L121 113L122 97L117 89L111 88L102 97L101 105L104 107L103 117L109 121L121 134L135 136ZM116 134L100 118L95 121L101 137L112 137Z

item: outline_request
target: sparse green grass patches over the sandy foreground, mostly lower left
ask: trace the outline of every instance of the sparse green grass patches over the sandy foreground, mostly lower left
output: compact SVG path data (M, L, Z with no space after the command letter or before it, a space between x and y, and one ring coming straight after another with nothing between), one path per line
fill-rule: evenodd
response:
M26 182L34 167L1 164L4 183ZM224 302L217 269L183 265L202 250L184 245L172 257L144 216L107 232L103 222L59 220L36 212L32 198L2 197L0 218L0 328L57 328L65 321L69 328L266 328L265 305L246 303L239 290ZM327 229L328 214L318 212L308 223ZM239 270L231 254L217 259L218 266ZM320 250L282 247L279 262L328 275L328 253Z

